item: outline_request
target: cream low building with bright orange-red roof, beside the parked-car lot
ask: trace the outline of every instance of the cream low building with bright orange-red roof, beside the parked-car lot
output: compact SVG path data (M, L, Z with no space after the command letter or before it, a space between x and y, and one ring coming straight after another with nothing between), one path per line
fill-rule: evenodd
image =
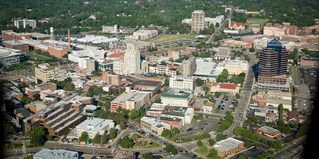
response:
M236 94L239 93L240 84L235 83L212 83L211 92L220 92L220 93L230 93Z

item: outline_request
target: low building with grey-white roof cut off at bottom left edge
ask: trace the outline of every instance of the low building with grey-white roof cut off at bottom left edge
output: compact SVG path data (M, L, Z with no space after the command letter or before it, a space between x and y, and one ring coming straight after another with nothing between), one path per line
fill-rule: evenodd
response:
M78 159L78 152L64 149L41 149L33 155L34 159Z

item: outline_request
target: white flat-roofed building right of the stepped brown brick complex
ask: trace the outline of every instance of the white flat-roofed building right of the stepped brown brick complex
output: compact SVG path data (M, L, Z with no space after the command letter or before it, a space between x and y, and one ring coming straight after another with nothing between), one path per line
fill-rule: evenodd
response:
M103 135L110 128L115 128L115 123L113 120L93 118L81 122L76 128L78 136L86 132L89 138L94 138L95 135Z

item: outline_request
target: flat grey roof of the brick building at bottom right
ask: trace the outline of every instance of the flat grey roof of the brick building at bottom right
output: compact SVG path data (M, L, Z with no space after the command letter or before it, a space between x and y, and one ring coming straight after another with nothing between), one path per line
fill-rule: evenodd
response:
M225 140L221 140L219 142L216 142L213 146L217 151L219 152L225 152L229 151L231 149L234 149L238 145L242 144L244 142L241 142L239 140L236 140L234 138L227 138Z

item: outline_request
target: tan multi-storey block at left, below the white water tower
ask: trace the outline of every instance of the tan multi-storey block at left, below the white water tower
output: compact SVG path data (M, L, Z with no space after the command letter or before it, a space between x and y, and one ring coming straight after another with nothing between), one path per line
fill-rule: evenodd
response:
M38 65L38 67L35 67L34 70L35 78L43 82L48 82L51 79L54 79L54 72L47 63Z

